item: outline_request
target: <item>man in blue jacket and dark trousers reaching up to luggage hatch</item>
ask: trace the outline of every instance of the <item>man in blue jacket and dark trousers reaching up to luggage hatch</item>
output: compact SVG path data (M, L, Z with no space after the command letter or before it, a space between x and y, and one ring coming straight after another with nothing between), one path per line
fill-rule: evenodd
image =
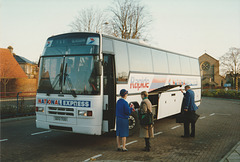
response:
M184 102L183 102L183 110L184 114L186 116L186 120L184 122L184 135L181 137L195 137L195 122L194 120L191 120L196 115L195 112L198 109L198 107L195 104L194 99L194 92L190 89L190 86L185 86L186 93L183 92L181 89L181 92L184 95ZM191 134L189 133L189 125L191 123Z

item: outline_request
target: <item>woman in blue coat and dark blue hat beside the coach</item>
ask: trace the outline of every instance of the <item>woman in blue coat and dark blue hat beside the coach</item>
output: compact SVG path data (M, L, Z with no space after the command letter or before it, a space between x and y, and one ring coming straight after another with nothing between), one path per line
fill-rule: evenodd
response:
M126 139L129 135L129 123L128 118L129 115L132 113L132 111L135 111L133 108L133 105L131 108L129 107L126 98L128 95L128 91L125 89L122 89L120 91L121 98L117 101L116 104L116 136L117 136L117 146L118 151L128 151L126 149ZM122 148L121 148L121 141L120 138L122 138Z

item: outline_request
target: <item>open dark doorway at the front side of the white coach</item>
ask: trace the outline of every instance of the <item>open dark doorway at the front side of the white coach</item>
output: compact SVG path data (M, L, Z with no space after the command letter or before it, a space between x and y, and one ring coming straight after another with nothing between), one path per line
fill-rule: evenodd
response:
M114 56L104 54L103 63L103 132L115 127L116 82Z

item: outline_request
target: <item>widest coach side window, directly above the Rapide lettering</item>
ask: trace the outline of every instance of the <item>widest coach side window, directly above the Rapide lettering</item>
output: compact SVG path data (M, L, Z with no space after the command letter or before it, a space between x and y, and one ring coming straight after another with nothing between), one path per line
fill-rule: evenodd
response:
M150 48L128 44L130 70L137 72L153 72Z

